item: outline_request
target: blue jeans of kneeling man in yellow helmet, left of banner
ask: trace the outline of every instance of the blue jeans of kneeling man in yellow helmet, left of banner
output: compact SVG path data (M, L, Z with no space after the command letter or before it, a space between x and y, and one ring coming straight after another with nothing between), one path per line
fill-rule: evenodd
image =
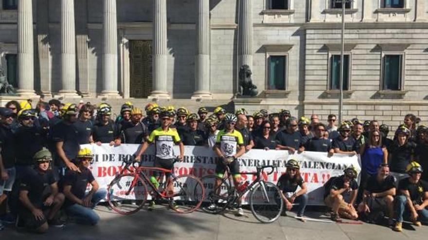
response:
M87 208L79 204L73 204L66 208L67 215L76 220L79 224L95 225L100 221L100 216L93 210L95 206L107 195L106 189L98 189L92 196L92 208Z

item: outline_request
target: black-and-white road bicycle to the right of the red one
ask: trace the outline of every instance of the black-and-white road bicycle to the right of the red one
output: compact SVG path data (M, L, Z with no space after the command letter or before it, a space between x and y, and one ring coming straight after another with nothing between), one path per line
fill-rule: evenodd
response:
M207 175L201 178L205 188L205 203L201 207L204 212L217 214L224 211L226 208L237 208L239 200L249 192L249 205L254 217L262 223L272 223L279 218L284 208L282 201L281 190L272 182L265 181L262 174L266 174L263 170L271 168L267 173L273 173L276 166L258 166L256 172L241 173L255 175L255 180L250 183L246 181L240 186L232 187L232 175L230 168L226 165L226 173L223 177L216 175ZM217 182L217 187L215 187Z

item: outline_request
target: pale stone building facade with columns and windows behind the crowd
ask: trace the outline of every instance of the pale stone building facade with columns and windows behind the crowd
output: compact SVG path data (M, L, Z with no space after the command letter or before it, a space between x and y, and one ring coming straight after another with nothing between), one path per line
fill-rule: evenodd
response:
M235 107L338 113L333 0L0 3L1 65L21 96L229 102L248 64L259 95ZM428 118L427 12L427 0L347 3L344 119Z

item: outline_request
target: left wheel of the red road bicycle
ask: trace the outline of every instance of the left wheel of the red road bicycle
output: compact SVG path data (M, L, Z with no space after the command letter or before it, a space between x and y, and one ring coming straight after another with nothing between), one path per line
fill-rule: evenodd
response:
M147 186L140 176L119 175L107 187L108 204L117 213L124 215L135 213L143 208L146 200Z

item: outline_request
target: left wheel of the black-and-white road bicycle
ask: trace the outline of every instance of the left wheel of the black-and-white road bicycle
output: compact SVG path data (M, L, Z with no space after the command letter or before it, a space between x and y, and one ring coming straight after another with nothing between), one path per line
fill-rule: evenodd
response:
M221 178L216 175L207 175L201 178L205 188L202 211L211 214L222 212L227 206L232 195L229 178ZM220 183L215 187L215 182Z

